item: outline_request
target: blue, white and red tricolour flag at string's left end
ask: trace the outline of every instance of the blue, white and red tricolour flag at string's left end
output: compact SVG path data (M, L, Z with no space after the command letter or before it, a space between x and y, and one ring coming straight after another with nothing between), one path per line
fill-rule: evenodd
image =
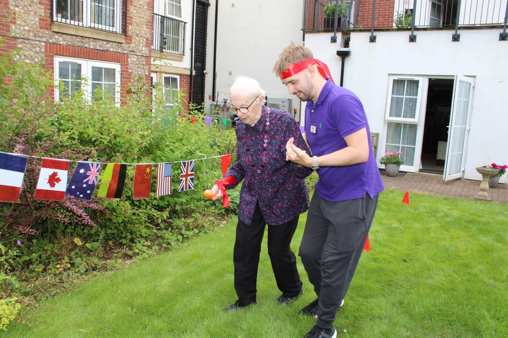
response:
M28 158L0 153L0 202L19 200Z

